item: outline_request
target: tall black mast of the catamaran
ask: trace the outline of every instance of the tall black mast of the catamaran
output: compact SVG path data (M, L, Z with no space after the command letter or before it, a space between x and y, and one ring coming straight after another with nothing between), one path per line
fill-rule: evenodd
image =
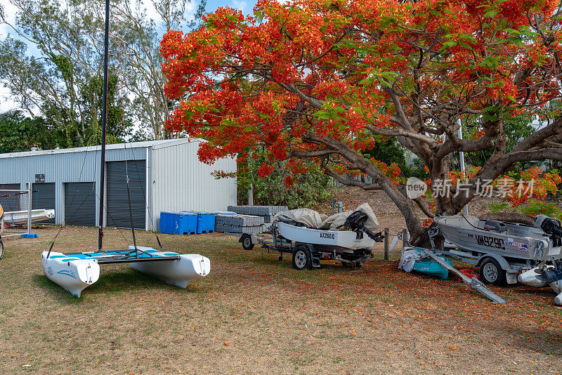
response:
M103 192L105 187L105 125L107 124L107 60L110 44L110 0L105 0L105 37L103 41L103 108L101 129L101 167L100 167L100 232L98 250L103 247Z

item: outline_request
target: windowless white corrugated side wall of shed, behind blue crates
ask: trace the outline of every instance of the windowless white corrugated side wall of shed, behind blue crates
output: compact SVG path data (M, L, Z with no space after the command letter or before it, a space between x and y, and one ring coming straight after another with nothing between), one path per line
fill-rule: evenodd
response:
M216 179L213 171L236 170L232 158L209 166L199 161L199 141L173 147L155 147L152 175L152 228L159 228L161 211L226 211L237 201L234 178Z

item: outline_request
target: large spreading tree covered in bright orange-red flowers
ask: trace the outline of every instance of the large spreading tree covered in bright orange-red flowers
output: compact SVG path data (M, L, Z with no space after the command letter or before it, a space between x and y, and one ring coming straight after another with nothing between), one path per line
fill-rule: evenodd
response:
M203 162L264 145L296 170L310 158L341 183L384 190L416 239L423 228L396 166L361 151L396 137L436 181L452 153L493 149L467 195L436 197L440 214L518 162L561 160L559 15L559 0L259 0L247 17L219 8L195 32L164 35L164 90L179 103L166 126L208 140ZM508 152L504 121L520 114L543 124ZM459 118L478 137L457 138Z

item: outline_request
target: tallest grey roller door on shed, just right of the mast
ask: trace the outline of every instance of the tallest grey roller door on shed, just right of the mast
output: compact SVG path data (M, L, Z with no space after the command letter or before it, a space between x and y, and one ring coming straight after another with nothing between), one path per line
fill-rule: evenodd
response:
M125 162L107 162L107 218L108 227L131 228L129 201L127 199ZM146 213L146 163L144 160L127 162L129 169L129 190L131 191L131 209L133 226L145 229Z

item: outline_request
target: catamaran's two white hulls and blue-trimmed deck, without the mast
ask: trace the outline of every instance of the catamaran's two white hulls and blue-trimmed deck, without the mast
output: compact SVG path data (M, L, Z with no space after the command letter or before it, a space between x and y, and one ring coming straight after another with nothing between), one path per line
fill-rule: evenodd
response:
M41 260L46 277L77 297L86 287L98 281L100 264L105 263L129 263L139 272L184 289L189 282L204 277L211 271L209 258L199 254L177 254L143 246L138 246L137 249L135 251L134 246L130 246L129 250L124 251L75 254L55 251L48 254L48 251L43 251ZM128 254L131 256L127 257Z

